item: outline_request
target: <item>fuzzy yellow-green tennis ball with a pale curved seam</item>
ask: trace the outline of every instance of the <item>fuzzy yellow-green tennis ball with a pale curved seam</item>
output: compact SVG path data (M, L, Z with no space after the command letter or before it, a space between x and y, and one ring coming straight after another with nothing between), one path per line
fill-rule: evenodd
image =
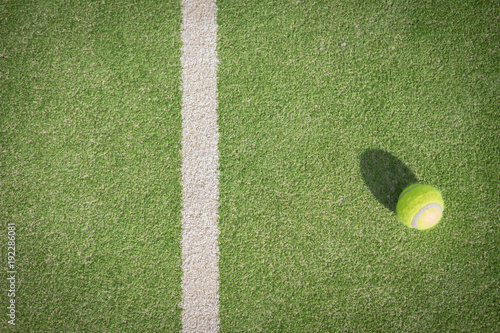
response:
M411 184L399 196L396 212L408 227L424 230L435 226L443 215L441 193L430 185Z

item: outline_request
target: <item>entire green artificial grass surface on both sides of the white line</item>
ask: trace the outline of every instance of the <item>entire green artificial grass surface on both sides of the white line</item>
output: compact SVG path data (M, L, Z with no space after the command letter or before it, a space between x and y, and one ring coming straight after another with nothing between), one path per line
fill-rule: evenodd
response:
M220 331L495 332L499 5L217 6ZM0 331L181 329L180 27L179 1L0 3ZM434 229L397 220L413 181Z

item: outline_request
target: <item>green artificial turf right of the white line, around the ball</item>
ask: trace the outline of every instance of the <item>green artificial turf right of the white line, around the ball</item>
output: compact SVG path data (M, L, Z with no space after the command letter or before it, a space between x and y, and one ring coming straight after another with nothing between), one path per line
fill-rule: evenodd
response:
M494 332L498 3L217 5L221 332ZM429 232L384 151L449 198Z

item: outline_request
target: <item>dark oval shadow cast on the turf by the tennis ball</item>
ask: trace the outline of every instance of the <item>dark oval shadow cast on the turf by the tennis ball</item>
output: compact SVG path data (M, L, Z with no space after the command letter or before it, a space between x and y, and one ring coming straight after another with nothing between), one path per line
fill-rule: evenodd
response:
M369 149L361 155L361 175L373 196L396 212L403 189L417 178L398 158L380 149Z

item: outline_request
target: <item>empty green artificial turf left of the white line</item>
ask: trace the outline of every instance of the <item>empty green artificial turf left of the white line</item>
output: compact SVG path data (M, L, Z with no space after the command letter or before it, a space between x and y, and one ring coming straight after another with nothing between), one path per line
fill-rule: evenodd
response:
M0 331L181 329L181 19L178 1L0 3Z

